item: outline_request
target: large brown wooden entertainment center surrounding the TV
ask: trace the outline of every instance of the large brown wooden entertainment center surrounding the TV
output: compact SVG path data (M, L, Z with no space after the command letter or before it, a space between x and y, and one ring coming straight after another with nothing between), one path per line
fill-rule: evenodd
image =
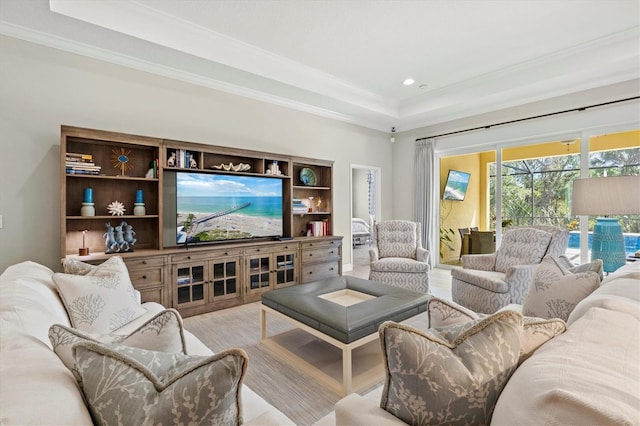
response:
M342 237L333 235L332 161L71 126L61 127L60 152L63 257L95 264L122 256L145 302L190 316L342 274ZM175 206L166 182L189 170L281 179L282 238L178 245L175 218L167 216L175 215ZM300 211L300 200L311 211ZM108 211L114 201L122 203L123 215ZM106 253L106 224L122 222L135 233L126 238L135 238L133 251ZM307 236L310 222L326 235ZM89 254L80 255L81 248Z

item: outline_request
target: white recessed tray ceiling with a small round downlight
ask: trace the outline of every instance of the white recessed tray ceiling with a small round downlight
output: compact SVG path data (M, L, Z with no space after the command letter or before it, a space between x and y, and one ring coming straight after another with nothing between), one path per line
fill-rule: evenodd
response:
M0 0L0 33L383 131L640 78L640 0Z

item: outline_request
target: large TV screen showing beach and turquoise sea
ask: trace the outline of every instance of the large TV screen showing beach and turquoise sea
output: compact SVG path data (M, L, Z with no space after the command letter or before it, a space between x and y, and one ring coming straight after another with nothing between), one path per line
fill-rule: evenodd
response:
M282 180L178 173L177 243L282 235Z

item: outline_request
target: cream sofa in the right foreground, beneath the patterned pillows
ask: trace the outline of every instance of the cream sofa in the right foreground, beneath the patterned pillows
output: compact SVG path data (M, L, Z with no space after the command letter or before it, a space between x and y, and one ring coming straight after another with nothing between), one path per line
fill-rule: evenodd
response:
M405 424L381 409L382 386L340 400L318 425ZM427 402L428 403L428 402ZM496 425L640 422L640 262L602 281L567 330L524 361L500 394Z

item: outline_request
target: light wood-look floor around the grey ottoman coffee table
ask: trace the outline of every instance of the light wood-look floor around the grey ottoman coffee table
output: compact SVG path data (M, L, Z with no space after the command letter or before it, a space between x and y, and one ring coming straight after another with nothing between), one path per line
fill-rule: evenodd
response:
M345 275L368 278L368 262L356 266L353 271ZM451 299L449 270L433 269L429 284L431 294ZM245 384L267 402L279 408L295 424L314 424L333 411L341 395L318 382L307 371L294 367L268 345L261 343L259 312L259 302L249 303L185 318L184 325L214 352L232 347L244 349L249 355L250 362ZM426 321L426 313L422 313L409 318L406 322L419 328L424 326ZM270 334L284 333L296 328L288 321L277 317L270 318L267 327ZM328 349L318 346L316 340L309 342L300 340L298 343L302 349L307 348L320 358L330 355L332 348L330 345ZM323 360L324 362L326 360ZM341 365L341 363L335 365ZM381 383L382 381L373 387ZM368 390L370 389L360 393L366 393Z

